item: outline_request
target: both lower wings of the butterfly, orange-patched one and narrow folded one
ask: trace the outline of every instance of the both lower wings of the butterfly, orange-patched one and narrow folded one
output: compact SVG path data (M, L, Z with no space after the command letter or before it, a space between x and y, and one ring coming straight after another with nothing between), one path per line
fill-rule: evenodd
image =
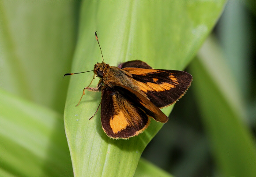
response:
M102 91L101 121L105 133L114 138L129 138L143 132L150 118L166 123L167 116L139 92L115 85Z

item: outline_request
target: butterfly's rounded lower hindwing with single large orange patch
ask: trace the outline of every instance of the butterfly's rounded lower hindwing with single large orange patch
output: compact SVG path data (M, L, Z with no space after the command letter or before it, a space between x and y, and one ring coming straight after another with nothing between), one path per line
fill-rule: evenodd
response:
M143 132L150 119L117 89L106 87L102 90L101 122L108 136L126 139Z

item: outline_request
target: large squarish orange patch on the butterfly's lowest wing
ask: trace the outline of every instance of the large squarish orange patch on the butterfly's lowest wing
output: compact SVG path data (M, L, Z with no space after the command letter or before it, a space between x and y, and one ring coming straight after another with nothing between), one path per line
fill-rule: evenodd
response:
M110 119L110 127L113 133L118 133L121 130L125 129L128 124L129 123L122 111L120 111L119 114L114 115L113 118Z

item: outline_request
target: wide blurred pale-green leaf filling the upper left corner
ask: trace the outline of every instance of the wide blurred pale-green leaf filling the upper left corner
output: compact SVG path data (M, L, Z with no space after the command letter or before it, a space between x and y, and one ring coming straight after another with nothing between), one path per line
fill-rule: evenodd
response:
M77 4L0 0L0 88L63 113Z

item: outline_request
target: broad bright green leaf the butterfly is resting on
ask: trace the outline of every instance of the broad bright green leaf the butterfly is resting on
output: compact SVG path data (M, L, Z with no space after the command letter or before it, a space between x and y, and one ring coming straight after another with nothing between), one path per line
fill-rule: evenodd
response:
M94 32L98 32L105 63L141 59L153 68L184 69L211 31L225 1L84 1L79 41L71 72L92 70L102 62ZM105 135L101 94L85 91L93 73L73 75L64 111L65 130L76 176L133 176L143 149L162 127L151 120L142 134L129 140ZM96 79L95 79L96 80ZM97 79L98 81L98 79ZM97 81L92 83L96 87ZM172 107L163 111L168 115Z

